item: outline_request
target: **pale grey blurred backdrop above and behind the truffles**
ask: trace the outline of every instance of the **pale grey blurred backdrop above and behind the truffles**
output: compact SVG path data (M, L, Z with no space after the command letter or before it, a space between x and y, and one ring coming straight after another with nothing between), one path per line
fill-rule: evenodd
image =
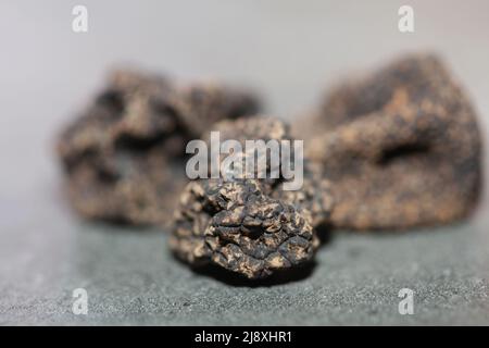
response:
M256 88L271 114L315 105L341 77L403 52L440 53L486 123L487 1L409 1L415 32L400 33L405 1L2 1L0 148L2 199L18 200L57 166L53 136L104 82L134 64L172 76L215 77ZM72 9L88 9L88 33ZM28 169L36 169L35 171ZM8 189L7 189L8 188Z

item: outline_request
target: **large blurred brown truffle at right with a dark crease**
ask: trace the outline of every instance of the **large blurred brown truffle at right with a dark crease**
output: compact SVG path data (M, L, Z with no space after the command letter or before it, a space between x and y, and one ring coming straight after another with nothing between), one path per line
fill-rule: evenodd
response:
M436 57L409 57L340 86L313 124L306 152L333 183L337 227L444 224L477 201L476 116Z

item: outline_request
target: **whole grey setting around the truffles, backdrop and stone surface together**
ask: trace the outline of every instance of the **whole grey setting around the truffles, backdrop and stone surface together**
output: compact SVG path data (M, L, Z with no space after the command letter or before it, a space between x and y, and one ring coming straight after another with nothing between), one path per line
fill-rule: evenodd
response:
M89 32L71 29L85 4ZM397 11L411 4L415 33ZM291 119L350 73L404 52L440 53L489 115L487 1L2 1L0 324L489 324L489 232L337 233L311 274L256 287L176 262L160 231L89 224L66 207L60 127L114 64L258 88ZM88 315L71 311L89 294ZM415 291L415 314L397 295Z

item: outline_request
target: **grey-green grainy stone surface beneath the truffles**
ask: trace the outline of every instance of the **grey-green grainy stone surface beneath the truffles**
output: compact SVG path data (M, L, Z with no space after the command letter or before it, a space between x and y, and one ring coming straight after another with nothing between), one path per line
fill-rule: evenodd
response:
M337 233L302 278L246 284L176 261L163 232L87 224L55 185L2 219L0 324L489 324L489 234L469 223L404 234ZM88 314L72 291L88 291ZM400 315L398 291L414 290Z

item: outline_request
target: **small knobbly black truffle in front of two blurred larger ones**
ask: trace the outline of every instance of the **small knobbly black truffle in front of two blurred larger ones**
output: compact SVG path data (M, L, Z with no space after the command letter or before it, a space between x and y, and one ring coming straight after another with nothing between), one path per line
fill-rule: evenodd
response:
M285 124L269 117L224 121L215 129L223 139L240 141L290 138ZM286 191L284 182L279 176L189 183L176 212L172 250L192 265L216 264L248 278L308 263L319 244L316 228L329 217L329 185L309 170L301 190Z

